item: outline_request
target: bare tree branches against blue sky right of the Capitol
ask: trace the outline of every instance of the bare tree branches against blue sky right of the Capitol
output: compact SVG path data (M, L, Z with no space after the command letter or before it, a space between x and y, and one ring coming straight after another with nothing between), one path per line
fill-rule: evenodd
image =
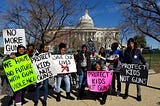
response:
M118 3L123 7L123 28L160 42L159 0L120 0Z

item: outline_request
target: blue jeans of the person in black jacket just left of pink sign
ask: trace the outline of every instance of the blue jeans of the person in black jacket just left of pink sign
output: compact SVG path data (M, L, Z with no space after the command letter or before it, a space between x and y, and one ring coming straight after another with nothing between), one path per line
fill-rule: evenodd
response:
M79 75L79 89L82 89L82 87L85 87L87 84L87 71L84 71L81 69L81 75Z

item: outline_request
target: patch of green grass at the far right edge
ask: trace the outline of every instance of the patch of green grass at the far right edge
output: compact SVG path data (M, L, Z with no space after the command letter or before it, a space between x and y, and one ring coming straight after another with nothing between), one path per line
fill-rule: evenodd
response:
M160 53L143 54L150 69L154 69L157 73L160 73Z

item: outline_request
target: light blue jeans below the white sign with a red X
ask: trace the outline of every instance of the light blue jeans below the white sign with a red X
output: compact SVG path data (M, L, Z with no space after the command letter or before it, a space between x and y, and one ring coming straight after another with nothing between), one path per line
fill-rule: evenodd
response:
M56 92L60 93L62 79L65 82L66 92L70 92L71 86L70 86L70 78L68 75L57 75L56 76Z

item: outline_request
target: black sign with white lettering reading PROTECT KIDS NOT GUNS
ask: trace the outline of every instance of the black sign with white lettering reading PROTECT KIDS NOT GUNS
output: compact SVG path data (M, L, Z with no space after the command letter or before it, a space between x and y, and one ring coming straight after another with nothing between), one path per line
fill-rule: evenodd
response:
M148 69L146 65L122 64L120 81L139 85L147 85Z

